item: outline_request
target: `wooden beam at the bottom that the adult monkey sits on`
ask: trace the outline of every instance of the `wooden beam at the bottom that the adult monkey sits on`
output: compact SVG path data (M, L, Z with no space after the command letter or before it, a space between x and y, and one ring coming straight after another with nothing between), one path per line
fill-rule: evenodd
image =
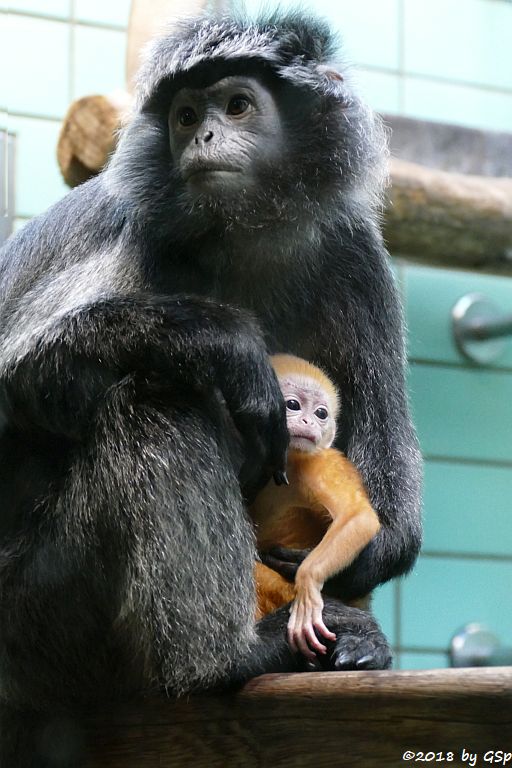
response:
M99 710L86 743L87 768L396 768L418 762L406 751L458 766L463 749L481 765L512 752L512 668L264 675Z

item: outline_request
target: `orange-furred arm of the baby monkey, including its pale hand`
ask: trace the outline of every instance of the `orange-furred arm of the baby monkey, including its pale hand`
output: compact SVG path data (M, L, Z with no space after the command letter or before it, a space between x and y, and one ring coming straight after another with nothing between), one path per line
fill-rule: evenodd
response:
M303 493L312 500L318 514L327 513L332 518L324 537L303 560L295 576L296 598L288 623L288 639L292 648L299 648L311 658L314 654L310 648L320 653L327 650L315 629L333 639L322 618L324 582L354 560L377 533L380 523L357 471L344 456L331 449L308 458L299 475Z

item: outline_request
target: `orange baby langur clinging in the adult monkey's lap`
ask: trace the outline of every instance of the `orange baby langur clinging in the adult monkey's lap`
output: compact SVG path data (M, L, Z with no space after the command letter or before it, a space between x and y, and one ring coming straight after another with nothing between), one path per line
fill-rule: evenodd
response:
M277 545L311 548L299 566L295 584L263 563L256 564L258 618L293 601L288 641L314 659L326 653L315 630L336 636L322 618L321 590L343 570L380 528L354 465L331 448L339 410L338 393L316 366L292 355L271 358L285 403L290 449L288 485L270 481L251 506L258 549Z

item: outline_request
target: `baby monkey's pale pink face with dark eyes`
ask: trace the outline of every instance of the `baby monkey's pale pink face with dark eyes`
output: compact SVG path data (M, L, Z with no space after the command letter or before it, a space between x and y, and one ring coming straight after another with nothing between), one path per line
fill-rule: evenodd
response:
M313 379L286 376L279 379L286 403L290 448L312 453L329 448L336 433L331 398Z

